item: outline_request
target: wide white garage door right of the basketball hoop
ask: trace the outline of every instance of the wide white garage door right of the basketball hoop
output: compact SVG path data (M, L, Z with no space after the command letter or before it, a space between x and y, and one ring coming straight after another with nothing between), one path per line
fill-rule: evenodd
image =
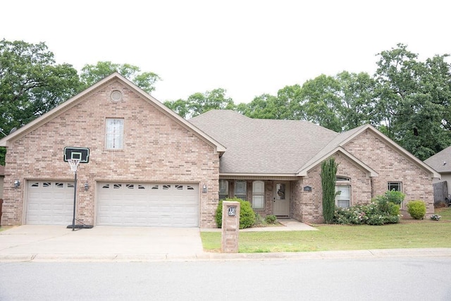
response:
M97 225L198 227L199 185L99 183Z

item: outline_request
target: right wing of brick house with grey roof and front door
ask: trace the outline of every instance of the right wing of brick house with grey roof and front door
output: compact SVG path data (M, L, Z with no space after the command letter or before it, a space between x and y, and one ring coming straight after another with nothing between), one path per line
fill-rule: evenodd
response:
M321 163L330 156L339 164L337 206L367 203L394 189L406 194L402 214L413 199L434 212L431 183L438 173L371 125L335 133L307 121L252 119L226 110L190 122L227 147L219 194L245 198L263 216L321 222Z

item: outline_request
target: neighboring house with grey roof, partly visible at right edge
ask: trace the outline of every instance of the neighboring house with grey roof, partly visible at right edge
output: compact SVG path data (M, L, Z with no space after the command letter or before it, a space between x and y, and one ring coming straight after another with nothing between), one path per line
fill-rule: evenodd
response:
M444 198L451 192L451 146L424 160L424 163L440 173L440 178L434 179L433 184L435 189L440 188L440 191L442 192L436 193L436 197L439 198L438 201L444 202ZM440 182L444 185L438 185Z

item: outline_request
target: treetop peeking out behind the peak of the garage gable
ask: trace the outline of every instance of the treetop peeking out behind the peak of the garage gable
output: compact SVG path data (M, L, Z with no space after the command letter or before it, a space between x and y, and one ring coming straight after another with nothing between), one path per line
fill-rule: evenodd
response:
M155 90L155 83L161 80L156 73L142 72L137 66L128 63L111 63L111 61L99 61L95 65L85 65L81 70L80 80L83 88L87 88L114 72L123 75L149 94Z

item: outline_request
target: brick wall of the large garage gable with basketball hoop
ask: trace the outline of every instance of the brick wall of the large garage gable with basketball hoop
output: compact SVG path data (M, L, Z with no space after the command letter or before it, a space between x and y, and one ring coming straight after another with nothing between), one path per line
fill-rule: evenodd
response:
M122 102L111 102L113 90ZM106 118L124 118L124 149L105 149ZM67 111L20 137L6 154L4 225L24 223L26 180L72 180L63 162L66 146L89 147L89 164L78 171L78 218L95 224L95 181L205 183L200 193L201 227L215 226L219 158L214 147L175 122L119 81L109 82ZM14 180L23 185L13 189ZM87 192L82 184L92 189Z

